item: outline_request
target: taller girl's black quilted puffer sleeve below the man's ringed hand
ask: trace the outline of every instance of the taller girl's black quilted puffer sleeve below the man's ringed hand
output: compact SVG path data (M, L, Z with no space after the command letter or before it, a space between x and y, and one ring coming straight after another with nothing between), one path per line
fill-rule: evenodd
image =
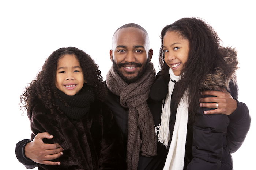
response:
M221 167L229 118L224 114L205 115L200 108L193 126L192 161L187 170L217 170Z

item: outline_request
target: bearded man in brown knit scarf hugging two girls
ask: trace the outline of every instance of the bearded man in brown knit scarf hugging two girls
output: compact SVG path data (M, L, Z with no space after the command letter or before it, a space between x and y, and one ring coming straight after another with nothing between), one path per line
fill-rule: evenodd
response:
M113 111L123 133L123 141L127 146L127 166L132 170L162 169L167 155L167 149L157 143L157 130L154 130L154 126L159 126L161 110L157 108L161 108L162 103L148 98L155 79L153 64L150 62L152 55L148 34L139 25L126 24L114 33L110 50L113 65L106 79L108 95L105 103ZM229 93L207 91L207 94L217 97L202 98L202 107L212 108L214 105L206 102L218 102L219 109L214 113L236 112L236 117L241 115L239 118L245 115L244 110L240 114L239 102ZM60 157L63 148L59 144L44 144L43 138L50 139L53 136L47 132L39 133L33 141L25 139L17 143L16 156L27 168L35 167L37 163L61 163L50 160ZM236 144L240 145L243 140Z

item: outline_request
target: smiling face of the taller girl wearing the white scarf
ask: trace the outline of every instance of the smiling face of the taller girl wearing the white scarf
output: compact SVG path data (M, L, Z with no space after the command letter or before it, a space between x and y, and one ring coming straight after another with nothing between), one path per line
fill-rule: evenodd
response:
M166 64L179 76L188 60L189 41L177 32L168 31L163 37L163 51Z

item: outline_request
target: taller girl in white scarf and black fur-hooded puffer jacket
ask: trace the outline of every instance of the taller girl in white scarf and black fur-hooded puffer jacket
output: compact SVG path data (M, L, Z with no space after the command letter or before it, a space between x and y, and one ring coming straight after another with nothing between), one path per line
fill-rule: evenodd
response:
M241 146L249 130L248 109L237 101L229 116L205 114L199 99L205 90L223 89L237 98L236 51L223 48L211 26L196 18L167 25L161 41L162 70L150 96L165 100L158 134L169 149L164 170L231 170L230 151Z

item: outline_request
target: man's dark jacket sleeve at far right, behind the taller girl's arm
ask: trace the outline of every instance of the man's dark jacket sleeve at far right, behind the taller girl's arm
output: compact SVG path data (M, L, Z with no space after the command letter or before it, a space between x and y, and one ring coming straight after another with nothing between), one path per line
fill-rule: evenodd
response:
M237 101L237 109L229 115L230 124L227 127L227 145L230 152L236 152L250 129L251 117L245 103Z

